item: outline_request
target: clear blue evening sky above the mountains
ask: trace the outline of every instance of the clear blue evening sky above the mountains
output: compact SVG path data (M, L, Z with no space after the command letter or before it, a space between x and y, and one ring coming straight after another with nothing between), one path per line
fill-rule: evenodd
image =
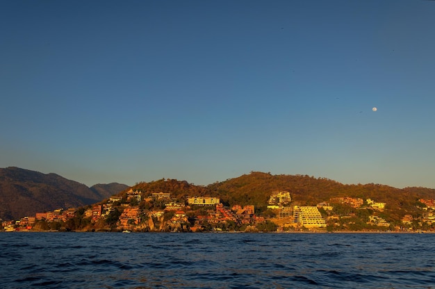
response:
M435 188L435 1L0 1L0 167ZM377 111L372 108L376 107Z

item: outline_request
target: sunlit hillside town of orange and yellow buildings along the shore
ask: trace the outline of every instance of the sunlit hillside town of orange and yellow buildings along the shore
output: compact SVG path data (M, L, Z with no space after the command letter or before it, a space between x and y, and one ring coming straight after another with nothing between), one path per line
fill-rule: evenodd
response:
M421 215L404 215L397 223L384 215L388 204L374 199L334 197L300 206L290 192L273 191L267 210L258 214L254 205L224 206L217 197L177 199L168 192L130 189L92 206L40 212L1 226L3 231L432 231L435 200L418 201Z

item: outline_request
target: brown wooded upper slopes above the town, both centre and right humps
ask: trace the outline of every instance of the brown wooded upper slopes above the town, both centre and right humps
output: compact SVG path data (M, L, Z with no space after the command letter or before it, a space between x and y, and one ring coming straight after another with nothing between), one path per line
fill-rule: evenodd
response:
M264 172L251 172L233 179L212 183L207 186L192 185L187 181L161 179L149 183L138 183L132 187L145 194L169 192L174 198L190 196L219 197L226 206L239 204L254 205L256 212L267 209L268 199L273 191L290 192L293 205L315 206L334 197L354 197L374 199L388 204L386 212L397 217L415 214L418 199L435 199L435 190L429 188L393 188L375 183L345 185L326 178L307 175L272 175Z

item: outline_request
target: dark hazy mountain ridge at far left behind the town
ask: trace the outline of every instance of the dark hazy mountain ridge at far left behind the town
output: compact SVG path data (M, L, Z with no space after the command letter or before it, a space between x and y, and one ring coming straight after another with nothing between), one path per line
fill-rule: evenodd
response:
M91 188L58 174L42 174L19 167L0 168L0 218L16 220L56 208L95 204L129 188L120 183Z

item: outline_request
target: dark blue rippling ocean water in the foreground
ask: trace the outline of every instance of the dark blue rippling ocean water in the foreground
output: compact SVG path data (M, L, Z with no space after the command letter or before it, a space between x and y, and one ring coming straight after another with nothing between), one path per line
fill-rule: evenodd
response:
M435 288L435 234L0 233L0 288Z

